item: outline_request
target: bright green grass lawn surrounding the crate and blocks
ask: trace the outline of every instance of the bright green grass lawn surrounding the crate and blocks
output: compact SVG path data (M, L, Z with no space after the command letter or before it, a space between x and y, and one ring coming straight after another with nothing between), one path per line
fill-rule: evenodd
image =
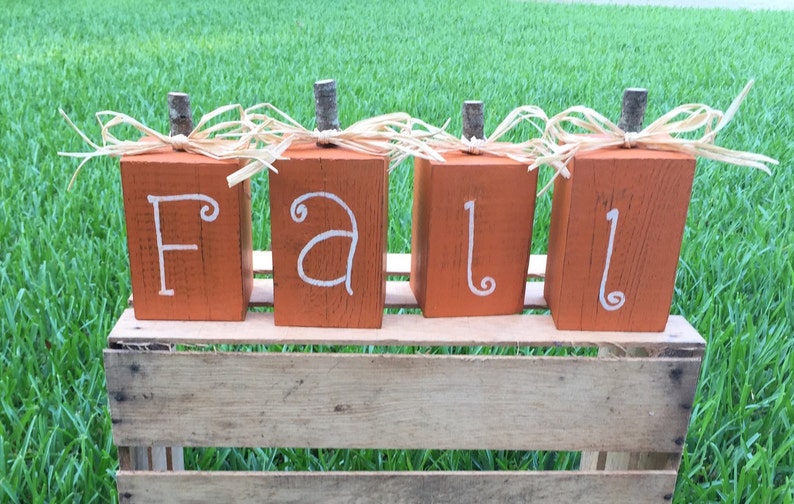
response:
M512 108L584 104L616 118L624 87L649 118L724 108L757 84L718 139L775 157L771 177L701 160L673 312L708 341L676 502L794 500L794 13L533 2L0 1L0 502L116 500L101 351L129 294L117 161L86 167L93 113L166 131L165 96L196 117L270 101L311 124L311 84L339 83L343 123L402 110L460 131L465 99L486 131ZM544 177L548 174L544 173ZM266 177L254 242L268 245ZM410 243L410 166L392 175L390 248ZM549 196L535 252L545 249ZM575 455L205 450L191 467L570 468Z

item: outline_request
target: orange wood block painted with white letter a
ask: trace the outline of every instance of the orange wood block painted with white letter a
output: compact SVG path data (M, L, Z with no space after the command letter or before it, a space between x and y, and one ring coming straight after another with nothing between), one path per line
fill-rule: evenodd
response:
M291 147L270 174L275 324L378 328L386 299L386 157Z

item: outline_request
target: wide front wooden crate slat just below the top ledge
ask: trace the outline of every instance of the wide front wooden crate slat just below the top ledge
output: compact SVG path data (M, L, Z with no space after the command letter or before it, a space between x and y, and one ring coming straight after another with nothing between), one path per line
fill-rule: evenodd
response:
M119 446L678 452L699 364L105 351Z

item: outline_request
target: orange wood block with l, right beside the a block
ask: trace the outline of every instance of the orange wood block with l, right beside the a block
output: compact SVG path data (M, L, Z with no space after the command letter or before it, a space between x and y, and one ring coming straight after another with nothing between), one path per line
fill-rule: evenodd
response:
M426 317L520 313L537 171L491 156L417 159L411 289Z

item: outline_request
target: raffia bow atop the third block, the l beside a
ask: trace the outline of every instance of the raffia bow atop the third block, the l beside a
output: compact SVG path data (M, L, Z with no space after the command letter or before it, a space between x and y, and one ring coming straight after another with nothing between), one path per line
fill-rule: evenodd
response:
M512 110L486 139L457 138L449 133L439 132L428 143L440 153L448 151L463 151L473 155L486 153L524 163L528 165L528 169L532 170L539 166L536 163L539 157L551 156L558 149L556 145L550 144L543 137L547 121L548 117L541 108L526 105ZM499 141L506 133L523 122L528 122L535 128L538 132L537 138L530 138L519 143ZM428 127L428 129L430 128ZM552 166L565 177L570 175L562 160L549 159L545 164Z

